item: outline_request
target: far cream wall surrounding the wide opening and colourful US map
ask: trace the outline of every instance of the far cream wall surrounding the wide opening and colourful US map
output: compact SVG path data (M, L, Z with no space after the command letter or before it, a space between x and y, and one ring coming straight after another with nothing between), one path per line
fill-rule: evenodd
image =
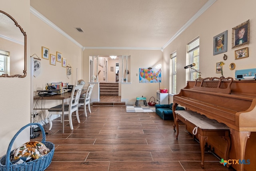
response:
M130 56L130 81L131 84L122 84L122 99L128 99L131 102L136 101L137 96L156 97L156 90L159 89L158 83L139 83L139 68L154 68L157 64L165 63L162 59L162 52L160 50L90 50L86 49L83 52L83 66L88 68L83 72L83 79L89 82L89 56L109 56L115 54L117 56L128 55ZM120 63L120 62L119 62ZM119 66L120 67L120 66ZM129 67L128 67L129 68ZM161 88L168 88L169 73L162 72ZM120 78L121 79L121 78Z

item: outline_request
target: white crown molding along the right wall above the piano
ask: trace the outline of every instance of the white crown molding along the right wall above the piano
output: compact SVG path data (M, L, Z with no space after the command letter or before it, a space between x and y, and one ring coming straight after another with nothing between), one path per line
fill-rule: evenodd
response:
M188 22L186 22L186 24L184 24L184 26L182 26L182 28L180 28L180 30L178 30L176 34L174 34L174 36L163 46L163 49L165 49L170 43L172 43L172 41L180 36L182 32L184 32L200 15L202 15L216 1L217 0L208 0L206 4L204 4L204 6L200 8L200 10L198 10L198 12L192 18L190 18L190 20L188 20Z

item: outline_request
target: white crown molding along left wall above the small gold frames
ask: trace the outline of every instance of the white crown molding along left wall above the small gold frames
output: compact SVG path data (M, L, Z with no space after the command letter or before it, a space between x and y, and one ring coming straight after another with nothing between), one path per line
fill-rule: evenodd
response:
M54 30L56 30L57 32L59 32L60 34L62 34L63 36L65 36L67 39L69 39L71 42L73 42L74 44L76 44L77 46L79 46L81 49L83 48L83 46L76 42L76 40L74 40L72 37L70 37L68 34L66 34L63 30L61 30L58 26L56 26L55 24L53 24L50 20L48 20L47 18L45 18L45 16L43 16L42 14L40 14L37 10L35 10L32 6L30 6L30 12L32 14L34 14L34 16L36 16L37 18L39 18L40 20L42 20L43 22L45 22L46 24L48 24L50 27L52 27Z

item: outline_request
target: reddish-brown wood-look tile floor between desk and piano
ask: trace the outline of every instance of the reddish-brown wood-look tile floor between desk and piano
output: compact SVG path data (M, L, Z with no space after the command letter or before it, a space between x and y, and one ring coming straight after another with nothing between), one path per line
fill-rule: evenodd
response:
M87 117L73 117L74 130L65 122L44 129L46 141L55 144L52 163L46 171L227 171L220 159L205 152L201 169L198 141L180 125L176 140L173 121L155 112L126 113L125 106L91 106ZM39 141L40 137L36 138ZM35 139L34 139L35 140Z

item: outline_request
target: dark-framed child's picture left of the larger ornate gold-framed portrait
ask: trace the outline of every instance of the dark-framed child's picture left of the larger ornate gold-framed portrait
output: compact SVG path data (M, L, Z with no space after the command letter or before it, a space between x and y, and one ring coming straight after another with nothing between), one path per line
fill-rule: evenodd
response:
M221 54L227 52L227 37L228 30L214 36L213 38L213 55Z

